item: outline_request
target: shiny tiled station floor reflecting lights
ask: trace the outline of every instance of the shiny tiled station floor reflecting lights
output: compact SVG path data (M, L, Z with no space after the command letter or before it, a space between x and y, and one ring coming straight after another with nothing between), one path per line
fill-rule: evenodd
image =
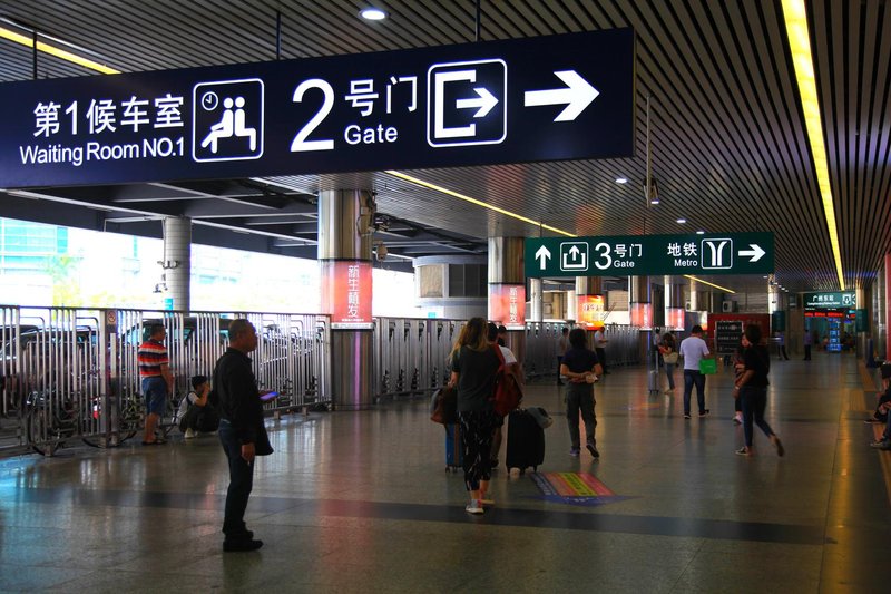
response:
M568 456L558 388L527 390L555 417L540 470L593 473L615 494L588 505L501 468L496 507L468 515L421 399L270 421L256 553L222 553L214 436L0 460L0 591L889 591L891 452L868 447L873 397L852 356L774 361L784 458L763 435L757 456L734 455L730 372L708 379L711 417L691 420L681 390L649 397L645 377L597 386L598 462Z

